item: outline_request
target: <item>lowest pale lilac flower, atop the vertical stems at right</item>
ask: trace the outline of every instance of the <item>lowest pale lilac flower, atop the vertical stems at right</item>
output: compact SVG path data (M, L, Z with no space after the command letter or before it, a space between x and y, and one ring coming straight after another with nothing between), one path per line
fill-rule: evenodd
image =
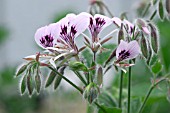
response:
M141 53L141 50L136 40L129 43L121 40L116 50L117 61L115 63L136 58L139 53Z

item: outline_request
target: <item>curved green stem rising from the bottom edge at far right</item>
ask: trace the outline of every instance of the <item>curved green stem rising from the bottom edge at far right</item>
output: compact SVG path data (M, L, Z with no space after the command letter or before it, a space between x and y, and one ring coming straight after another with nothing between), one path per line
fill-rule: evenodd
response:
M154 89L159 83L163 82L164 80L167 80L167 79L166 79L166 78L163 78L163 79L161 79L160 81L156 82L154 85L152 85L152 86L149 88L149 91L148 91L148 93L147 93L147 95L146 95L146 97L145 97L145 99L144 99L144 101L143 101L143 104L141 105L138 113L142 113L142 110L143 110L143 108L145 107L145 104L146 104L146 102L147 102L147 100L148 100L151 92L153 91L153 89Z

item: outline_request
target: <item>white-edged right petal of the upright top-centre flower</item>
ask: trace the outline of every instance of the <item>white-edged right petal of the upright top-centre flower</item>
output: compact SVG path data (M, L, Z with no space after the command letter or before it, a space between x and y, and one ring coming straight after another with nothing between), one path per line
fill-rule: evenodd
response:
M96 19L99 19L98 23L96 23L96 26L97 26L97 24L99 24L99 26L101 26L100 32L112 23L112 19L107 16L104 16L104 15L95 14L94 20L96 21Z

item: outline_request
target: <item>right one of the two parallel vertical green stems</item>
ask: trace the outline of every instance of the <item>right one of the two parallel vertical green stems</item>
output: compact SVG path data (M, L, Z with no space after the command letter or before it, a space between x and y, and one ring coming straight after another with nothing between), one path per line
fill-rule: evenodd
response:
M131 64L131 60L129 61L129 64ZM132 69L131 69L131 67L129 67L129 74L128 74L128 105L127 105L127 113L130 113L131 72L132 72Z

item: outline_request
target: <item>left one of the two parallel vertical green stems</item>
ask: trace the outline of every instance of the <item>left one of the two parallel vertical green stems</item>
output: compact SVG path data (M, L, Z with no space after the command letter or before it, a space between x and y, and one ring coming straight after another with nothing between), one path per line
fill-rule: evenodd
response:
M120 86L119 86L119 108L122 107L122 88L123 88L123 71L121 70Z

